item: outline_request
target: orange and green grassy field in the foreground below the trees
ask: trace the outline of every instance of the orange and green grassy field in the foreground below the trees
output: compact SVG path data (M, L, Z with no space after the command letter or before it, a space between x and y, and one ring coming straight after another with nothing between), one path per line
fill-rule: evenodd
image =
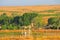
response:
M30 36L22 35L21 31L1 31L0 40L60 40L60 30L33 30Z

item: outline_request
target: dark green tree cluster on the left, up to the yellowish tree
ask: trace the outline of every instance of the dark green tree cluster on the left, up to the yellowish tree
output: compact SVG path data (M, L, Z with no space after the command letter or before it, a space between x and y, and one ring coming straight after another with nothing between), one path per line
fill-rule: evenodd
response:
M37 16L37 13L24 13L22 16L14 16L8 17L6 13L3 13L0 16L0 26L1 29L6 30L15 30L20 29L22 26L28 26L31 24L33 18Z

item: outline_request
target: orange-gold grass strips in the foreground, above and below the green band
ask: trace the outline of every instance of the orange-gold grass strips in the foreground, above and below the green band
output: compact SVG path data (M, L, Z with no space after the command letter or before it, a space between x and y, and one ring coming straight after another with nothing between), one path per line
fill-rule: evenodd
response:
M0 32L21 32L22 30L1 30ZM5 37L0 37L0 40L60 40L60 30L45 30L45 29L40 29L40 30L33 30L34 32L41 32L41 33L46 33L47 36L42 35L41 37L33 37L33 36L8 36L6 35ZM48 33L53 33L50 34L52 36L48 36Z

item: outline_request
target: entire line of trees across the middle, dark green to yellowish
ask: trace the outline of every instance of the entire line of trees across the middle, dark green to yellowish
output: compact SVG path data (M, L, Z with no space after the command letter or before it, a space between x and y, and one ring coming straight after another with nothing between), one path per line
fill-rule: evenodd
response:
M23 15L7 16L6 13L0 15L0 29L1 30L18 30L23 29L23 26L29 26L33 23L35 29L60 29L60 17L51 17L48 19L48 24L44 24L40 14L31 12Z

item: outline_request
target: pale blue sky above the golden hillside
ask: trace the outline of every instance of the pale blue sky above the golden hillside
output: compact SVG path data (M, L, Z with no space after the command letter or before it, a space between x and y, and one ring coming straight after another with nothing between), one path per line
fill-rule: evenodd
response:
M0 0L0 6L60 5L60 0Z

